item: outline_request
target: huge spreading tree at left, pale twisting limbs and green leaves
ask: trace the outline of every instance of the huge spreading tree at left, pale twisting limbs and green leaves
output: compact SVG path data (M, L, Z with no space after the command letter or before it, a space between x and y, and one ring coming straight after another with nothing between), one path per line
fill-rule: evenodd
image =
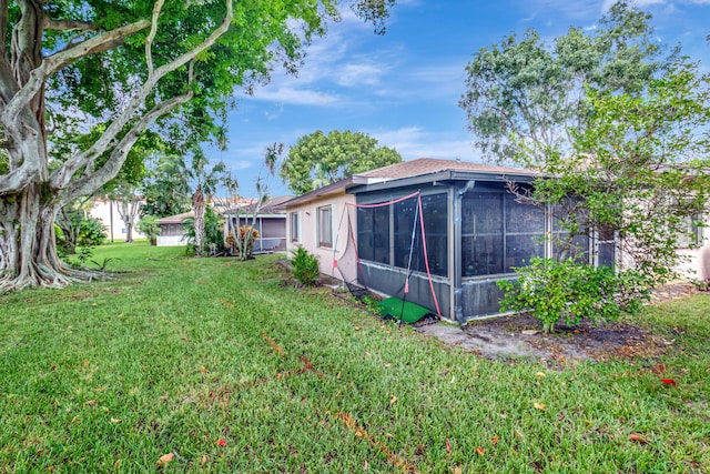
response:
M384 30L394 0L355 0ZM180 134L211 123L235 88L295 72L305 47L338 19L337 0L11 0L0 2L0 291L88 279L57 256L58 206L113 179L149 129ZM105 129L49 149L62 118ZM88 127L87 127L88 125Z

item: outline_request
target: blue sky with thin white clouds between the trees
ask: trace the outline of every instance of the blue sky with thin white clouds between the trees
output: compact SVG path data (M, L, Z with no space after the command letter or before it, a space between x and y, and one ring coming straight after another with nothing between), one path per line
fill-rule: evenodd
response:
M345 11L343 21L307 49L297 77L276 71L253 95L236 91L227 117L229 145L206 150L223 160L254 196L257 175L266 177L263 155L270 143L288 147L317 130L351 130L394 148L405 161L440 158L481 162L458 100L465 68L481 48L510 33L536 29L548 41L569 27L594 29L612 0L400 0L386 33L377 36ZM660 44L682 52L710 72L710 0L637 0L653 18ZM278 175L268 178L270 195L290 194Z

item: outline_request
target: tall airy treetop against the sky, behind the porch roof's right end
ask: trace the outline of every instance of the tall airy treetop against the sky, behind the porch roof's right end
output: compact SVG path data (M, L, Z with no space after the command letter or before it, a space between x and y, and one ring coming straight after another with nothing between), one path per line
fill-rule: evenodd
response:
M484 157L528 167L570 153L569 131L588 127L586 89L636 94L673 62L677 51L658 46L650 18L620 1L592 32L571 27L548 44L529 29L481 48L459 105Z

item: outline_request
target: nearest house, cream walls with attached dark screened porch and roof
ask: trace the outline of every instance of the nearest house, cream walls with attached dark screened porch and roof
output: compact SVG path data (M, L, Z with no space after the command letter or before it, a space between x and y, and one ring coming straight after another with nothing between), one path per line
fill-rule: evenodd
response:
M545 239L564 233L554 210L520 203L508 191L535 177L453 160L384 167L285 202L287 246L317 255L325 274L450 321L497 314L499 280L515 278L514 268L532 256L561 251ZM591 263L616 259L613 236L576 238L576 244Z

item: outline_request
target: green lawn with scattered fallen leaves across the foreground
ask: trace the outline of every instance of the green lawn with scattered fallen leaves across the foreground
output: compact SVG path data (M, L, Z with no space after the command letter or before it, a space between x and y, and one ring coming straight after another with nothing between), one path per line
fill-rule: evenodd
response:
M110 258L115 280L0 296L0 472L710 471L706 294L640 317L661 359L549 371L284 285L275 255Z

